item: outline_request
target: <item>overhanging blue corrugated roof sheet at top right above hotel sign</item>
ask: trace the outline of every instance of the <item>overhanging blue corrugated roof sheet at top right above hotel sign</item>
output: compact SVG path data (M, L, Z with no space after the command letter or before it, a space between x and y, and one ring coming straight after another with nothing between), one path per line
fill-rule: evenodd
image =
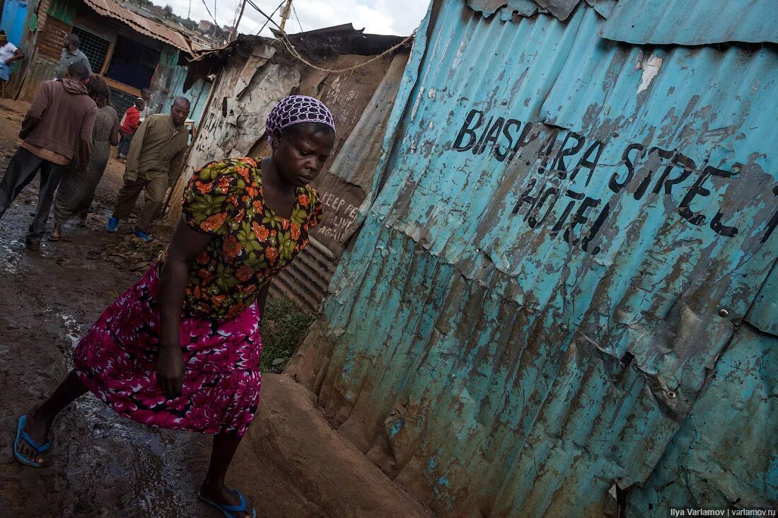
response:
M633 44L778 43L775 0L622 0L602 37Z

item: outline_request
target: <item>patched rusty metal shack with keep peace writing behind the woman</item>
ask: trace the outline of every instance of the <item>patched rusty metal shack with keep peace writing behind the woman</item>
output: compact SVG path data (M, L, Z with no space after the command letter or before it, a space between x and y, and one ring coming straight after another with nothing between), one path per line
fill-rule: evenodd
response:
M324 100L338 128L335 150L314 181L325 217L311 232L310 246L271 290L316 311L342 254L346 229L370 190L411 38L365 34L351 24L287 38L240 35L189 63L184 88L208 74L216 81L184 174L171 192L167 219L180 218L181 193L198 167L216 157L269 153L265 118L282 97L299 93Z

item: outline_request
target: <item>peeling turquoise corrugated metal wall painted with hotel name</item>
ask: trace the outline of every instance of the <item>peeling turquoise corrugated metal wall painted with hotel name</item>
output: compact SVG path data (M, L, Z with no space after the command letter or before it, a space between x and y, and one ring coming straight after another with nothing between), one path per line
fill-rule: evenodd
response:
M444 516L772 505L778 52L479 3L422 23L286 372Z

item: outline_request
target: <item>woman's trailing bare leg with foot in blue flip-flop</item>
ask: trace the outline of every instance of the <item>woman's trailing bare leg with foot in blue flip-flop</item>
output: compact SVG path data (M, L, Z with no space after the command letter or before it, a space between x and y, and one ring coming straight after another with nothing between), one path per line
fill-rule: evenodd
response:
M68 372L65 379L59 384L54 393L39 407L27 414L27 424L24 431L30 435L30 439L37 442L38 445L46 442L46 437L51 429L51 423L65 407L77 400L86 393L86 386L81 382L75 371ZM17 448L19 453L28 459L35 459L37 463L44 463L44 456L37 453L32 446L25 441L19 441Z

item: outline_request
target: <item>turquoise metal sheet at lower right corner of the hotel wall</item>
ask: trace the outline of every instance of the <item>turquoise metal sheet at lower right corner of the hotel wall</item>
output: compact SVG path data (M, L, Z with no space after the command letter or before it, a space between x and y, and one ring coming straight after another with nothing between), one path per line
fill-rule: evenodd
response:
M778 501L778 338L745 326L626 516L670 516L670 507L770 509Z

